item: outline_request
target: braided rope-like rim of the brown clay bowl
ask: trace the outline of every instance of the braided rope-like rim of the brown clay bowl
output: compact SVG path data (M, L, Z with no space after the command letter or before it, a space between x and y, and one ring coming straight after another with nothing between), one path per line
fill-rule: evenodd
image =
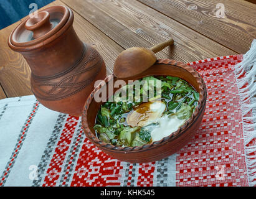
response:
M120 147L120 146L113 146L112 144L107 144L103 141L100 141L100 139L98 139L97 136L95 136L93 134L93 132L90 131L90 128L88 127L88 123L87 123L87 110L90 106L90 103L92 103L92 101L93 101L94 94L100 89L100 85L98 85L92 91L90 96L88 96L87 101L85 102L85 106L83 107L83 111L82 111L83 132L85 133L87 138L93 144L95 144L96 146L101 147L105 150L111 150L111 151L122 152L122 153L138 152L138 150L144 151L144 150L153 149L155 147L162 146L162 145L166 144L167 142L173 141L177 137L181 136L181 134L183 134L183 132L186 131L186 129L188 127L190 127L194 122L196 122L196 119L199 117L199 115L201 114L201 112L204 109L204 105L206 104L207 91L206 91L206 84L204 83L204 80L202 79L202 77L199 75L199 73L193 67L187 65L186 63L178 62L176 60L170 60L170 59L158 59L156 61L156 63L154 63L154 65L159 65L159 64L175 65L177 67L181 67L184 70L186 70L187 72L191 73L191 75L194 76L197 83L199 84L199 101L198 101L196 109L194 110L194 113L192 114L191 118L189 118L186 121L186 123L184 123L182 126L180 126L177 131L174 131L169 136L163 137L163 139L161 139L159 141L154 141L150 144L145 144L140 147L138 147L138 146L137 147ZM105 80L103 81L103 85L107 84L108 81L113 80L113 78L115 78L115 77L113 76L113 73L112 73L111 75L107 76L107 78L105 78Z

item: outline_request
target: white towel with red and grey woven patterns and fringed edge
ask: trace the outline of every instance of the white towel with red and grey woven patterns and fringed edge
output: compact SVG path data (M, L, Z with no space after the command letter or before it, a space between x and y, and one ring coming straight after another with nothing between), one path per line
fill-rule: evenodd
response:
M201 127L179 152L146 164L103 153L83 134L80 118L50 111L34 96L2 99L0 186L255 186L250 57L189 63L207 85Z

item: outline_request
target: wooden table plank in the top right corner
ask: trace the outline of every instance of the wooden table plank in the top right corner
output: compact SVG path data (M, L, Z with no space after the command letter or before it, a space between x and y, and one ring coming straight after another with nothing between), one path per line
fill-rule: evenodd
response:
M256 5L242 0L169 1L138 0L181 24L225 45L245 53L256 38ZM218 3L225 9L224 18L216 16Z

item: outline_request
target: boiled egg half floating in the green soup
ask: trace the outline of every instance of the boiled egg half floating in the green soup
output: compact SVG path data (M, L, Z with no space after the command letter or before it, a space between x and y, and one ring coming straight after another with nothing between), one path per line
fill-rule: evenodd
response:
M130 126L147 126L158 121L165 109L163 101L143 103L128 114L126 122Z

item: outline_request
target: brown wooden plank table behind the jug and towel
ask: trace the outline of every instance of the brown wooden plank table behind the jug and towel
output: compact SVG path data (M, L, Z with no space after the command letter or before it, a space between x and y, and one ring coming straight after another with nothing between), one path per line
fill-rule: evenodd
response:
M219 2L57 0L45 7L56 4L71 7L78 36L102 54L111 73L122 50L152 47L170 36L175 44L157 53L158 58L187 63L247 52L256 38L256 5L239 0L222 1L225 15L221 18L216 15ZM0 30L0 99L32 95L31 71L22 55L7 45L9 34L19 23Z

